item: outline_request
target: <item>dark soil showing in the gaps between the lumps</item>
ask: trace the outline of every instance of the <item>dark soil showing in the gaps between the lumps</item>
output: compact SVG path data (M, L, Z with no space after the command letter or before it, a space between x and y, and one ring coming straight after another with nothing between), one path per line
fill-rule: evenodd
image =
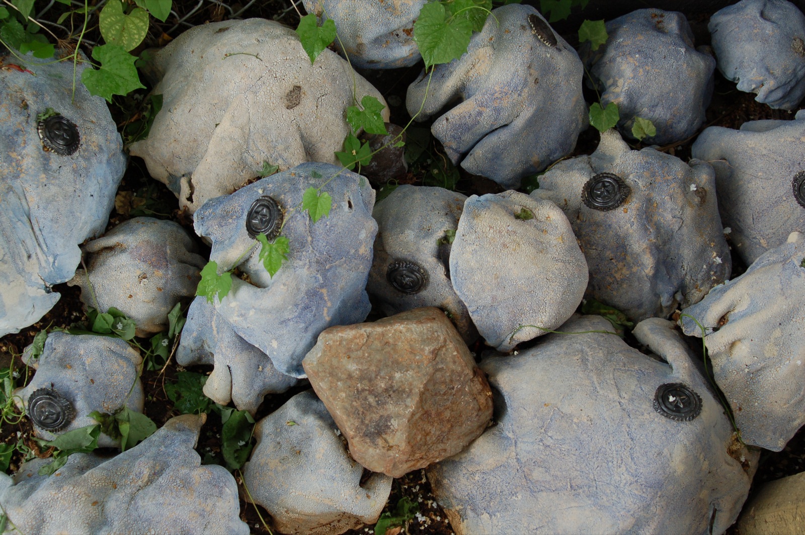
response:
M95 2L90 2L91 4ZM232 18L237 15L237 18L252 18L262 17L266 19L275 19L280 22L286 23L291 27L296 27L299 22L299 17L291 6L289 0L264 0L261 2L227 2L229 5L224 6L213 2L213 0L174 0L174 11L179 14L178 19L171 14L167 23L152 24L149 36L147 38L148 46L160 46L169 42L172 38L184 31L188 27L204 24L207 22L214 22ZM524 2L536 3L536 2ZM594 2L591 2L594 3ZM649 2L650 3L650 2ZM301 4L301 2L299 2ZM58 6L58 4L56 4ZM644 5L635 6L645 7ZM667 6L666 6L667 7ZM301 9L301 6L300 6ZM54 8L48 12L45 19L55 20L60 11ZM691 26L696 34L696 44L707 44L709 35L706 29L708 16L706 14L691 15ZM576 16L577 14L574 14ZM153 19L152 19L153 22ZM555 26L559 31L563 31L567 25L563 27L562 24ZM572 30L566 30L568 32ZM565 35L565 38L571 44L576 44L577 38L572 33ZM97 42L100 36L97 35L97 29L93 29L88 34L90 42L93 40ZM144 48L143 46L142 48ZM136 52L136 51L135 51ZM405 97L407 87L417 76L421 70L420 66L415 66L407 69L397 69L390 71L361 71L378 90L381 91L386 101L390 105L391 122L394 124L404 126L409 120L409 116L405 109ZM110 106L111 112L118 126L122 130L130 121L138 118L138 113L142 111L143 97L147 95L147 89L137 92L135 95L129 97L118 97L115 105ZM586 95L588 101L595 101L596 98L593 93ZM754 95L741 93L735 88L735 84L725 80L716 72L715 92L712 98L712 104L707 112L707 124L705 126L726 126L729 128L738 128L745 121L753 121L757 119L792 119L795 112L785 112L781 110L770 109L766 105L758 104L753 100ZM438 116L438 115L437 115ZM423 123L428 127L427 122ZM704 126L702 127L704 130ZM660 150L668 154L687 161L691 157L691 144L695 137L684 140L682 142L674 143L669 146L663 146ZM596 130L590 128L581 134L576 146L576 154L590 154L596 149L598 143L598 133ZM634 148L640 148L639 144L634 145ZM398 177L397 183L414 183L414 184L432 184L432 175L428 175L431 167L444 162L444 150L440 144L435 140L431 140L427 148L427 155L420 158L419 163L415 163L409 168L407 175ZM430 160L430 161L427 161ZM444 165L444 164L443 164ZM493 183L492 181L483 177L469 175L462 169L458 169L460 180L456 185L458 191L463 192L465 195L483 195L490 192L502 191L502 188ZM127 193L128 192L128 193ZM184 216L178 210L178 204L174 195L167 190L161 183L157 183L151 179L145 167L145 164L140 158L131 158L130 165L126 171L126 175L122 181L121 187L118 190L120 196L120 203L109 217L109 228L114 227L122 220L128 219L136 212L130 212L131 208L142 208L143 204L146 208L155 212L155 216L170 217L180 224L183 224L191 235L194 235L192 230L192 221ZM139 201L132 201L139 199ZM118 211L119 209L119 211ZM200 244L201 245L201 244ZM203 250L208 251L208 249ZM736 264L733 272L733 278L741 274L745 270L745 266ZM31 327L23 329L15 335L7 335L0 339L0 368L10 365L14 361L14 368L24 370L25 366L19 360L19 354L28 344L31 343L33 337L43 329L52 329L54 327L66 328L72 323L85 321L85 311L79 300L80 290L74 287L69 287L66 284L61 284L54 287L54 290L61 294L60 301L52 311L48 312L42 320L35 323ZM188 304L188 303L185 303ZM379 317L373 311L370 317ZM628 340L628 337L627 337ZM483 348L477 346L473 351L480 354ZM196 367L193 371L196 372L210 372L210 366ZM173 409L172 402L168 399L164 390L166 382L174 381L176 372L181 368L174 362L169 362L163 370L159 371L146 371L142 374L143 388L146 393L147 401L145 405L145 413L149 416L157 426L163 426L167 420L176 414ZM28 372L29 376L33 371ZM18 382L18 385L24 384L26 372L23 372L23 377ZM272 411L283 405L295 393L299 393L304 389L309 388L307 381L302 381L303 384L291 389L291 391L282 395L270 395L258 410L257 418L262 418ZM38 455L47 456L49 452L39 452L37 443L31 440L31 425L26 418L20 422L4 423L0 428L0 442L15 443L18 438L23 438L23 441L28 447L31 447ZM208 461L210 459L220 458L221 448L221 423L216 414L208 416L207 423L202 429L201 436L196 450L201 455L202 459ZM19 467L21 460L20 455L17 455L11 463L10 472ZM753 491L762 484L772 479L779 479L786 475L793 475L805 471L805 428L800 430L791 442L788 443L786 448L778 453L770 451L762 451L760 466L753 483ZM246 491L242 485L242 479L239 477L237 471L235 472L237 483L241 488L241 495L245 496ZM408 533L432 533L439 535L447 535L452 533L452 529L447 521L444 512L440 506L436 504L436 500L431 494L430 484L424 471L414 471L399 479L394 479L392 492L386 509L389 511L394 509L399 500L407 496L412 502L419 504L419 514L415 516L406 526ZM270 516L267 512L259 506L247 504L246 501L241 501L241 517L246 521L253 533L269 533L263 527L262 519L269 521ZM390 535L395 535L397 530L390 530ZM362 529L357 529L350 533L374 533L373 526L367 525Z

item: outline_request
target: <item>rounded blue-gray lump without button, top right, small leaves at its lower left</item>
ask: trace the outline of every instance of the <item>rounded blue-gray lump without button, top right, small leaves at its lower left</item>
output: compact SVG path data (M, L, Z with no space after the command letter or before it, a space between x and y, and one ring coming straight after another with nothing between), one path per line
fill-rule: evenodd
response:
M632 136L636 117L657 134L646 143L677 142L696 134L710 104L716 60L696 51L687 19L676 11L633 11L606 23L606 42L581 56L601 91L601 106L617 104L618 129Z

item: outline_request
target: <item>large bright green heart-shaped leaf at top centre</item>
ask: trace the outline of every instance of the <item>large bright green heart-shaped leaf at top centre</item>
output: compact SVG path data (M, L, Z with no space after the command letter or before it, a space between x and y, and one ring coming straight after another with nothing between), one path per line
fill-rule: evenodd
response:
M469 46L473 25L468 19L448 19L444 4L430 2L419 10L414 24L414 42L425 61L425 68L460 58Z

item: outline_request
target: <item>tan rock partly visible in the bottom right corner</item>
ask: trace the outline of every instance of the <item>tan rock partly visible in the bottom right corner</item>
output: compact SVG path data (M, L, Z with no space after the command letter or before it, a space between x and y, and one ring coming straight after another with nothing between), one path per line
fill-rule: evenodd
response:
M805 533L805 472L763 485L737 522L741 535Z

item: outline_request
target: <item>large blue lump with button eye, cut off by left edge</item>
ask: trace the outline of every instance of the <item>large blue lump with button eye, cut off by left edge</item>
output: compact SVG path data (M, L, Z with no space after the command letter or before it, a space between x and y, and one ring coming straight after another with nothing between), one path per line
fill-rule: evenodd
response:
M0 69L0 336L56 304L51 286L72 278L78 245L106 228L126 168L106 101L80 82L73 94L72 62L25 60L35 75ZM78 64L76 80L88 67ZM45 125L47 109L60 116Z

